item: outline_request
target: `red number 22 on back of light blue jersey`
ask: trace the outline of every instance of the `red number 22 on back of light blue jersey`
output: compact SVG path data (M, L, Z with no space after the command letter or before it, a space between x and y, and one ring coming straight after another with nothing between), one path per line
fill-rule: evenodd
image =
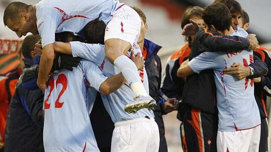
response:
M63 106L64 101L59 102L59 99L67 89L68 81L67 81L67 77L64 74L60 74L57 77L56 83L55 83L54 77L51 77L51 79L49 80L49 84L47 87L50 87L50 90L49 90L49 94L47 95L47 98L44 100L44 109L50 108L51 103L48 103L48 100L49 100L54 88L57 88L57 86L59 86L58 84L62 84L62 89L59 92L57 99L55 100L55 108L61 108ZM56 87L55 87L55 85L56 85Z

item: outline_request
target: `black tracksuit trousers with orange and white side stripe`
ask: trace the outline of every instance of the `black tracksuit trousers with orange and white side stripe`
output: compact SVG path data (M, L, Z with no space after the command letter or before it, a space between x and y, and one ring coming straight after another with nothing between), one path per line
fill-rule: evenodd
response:
M184 152L216 152L218 114L189 109L181 124L181 139Z

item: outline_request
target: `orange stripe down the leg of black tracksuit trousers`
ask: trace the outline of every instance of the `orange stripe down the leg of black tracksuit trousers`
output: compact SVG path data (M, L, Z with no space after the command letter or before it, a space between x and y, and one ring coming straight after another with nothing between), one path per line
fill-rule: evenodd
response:
M201 118L200 118L200 110L198 109L191 109L191 120L187 120L188 123L192 125L196 132L196 136L199 143L199 152L204 152L204 139L203 139L203 131L201 125Z

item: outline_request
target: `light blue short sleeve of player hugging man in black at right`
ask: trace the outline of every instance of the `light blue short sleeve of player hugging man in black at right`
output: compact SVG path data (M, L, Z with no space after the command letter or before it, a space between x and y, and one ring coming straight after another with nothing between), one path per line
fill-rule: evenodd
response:
M214 52L203 52L197 57L194 57L188 62L188 66L195 73L200 73L203 70L214 69L217 67L216 58L218 53Z

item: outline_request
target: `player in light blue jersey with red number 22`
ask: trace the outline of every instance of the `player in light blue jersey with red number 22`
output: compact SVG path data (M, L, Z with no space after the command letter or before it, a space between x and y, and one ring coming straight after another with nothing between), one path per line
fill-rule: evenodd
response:
M109 94L124 82L121 73L106 77L96 64L87 60L81 60L73 71L54 72L44 96L45 151L99 151L89 119L95 89Z

